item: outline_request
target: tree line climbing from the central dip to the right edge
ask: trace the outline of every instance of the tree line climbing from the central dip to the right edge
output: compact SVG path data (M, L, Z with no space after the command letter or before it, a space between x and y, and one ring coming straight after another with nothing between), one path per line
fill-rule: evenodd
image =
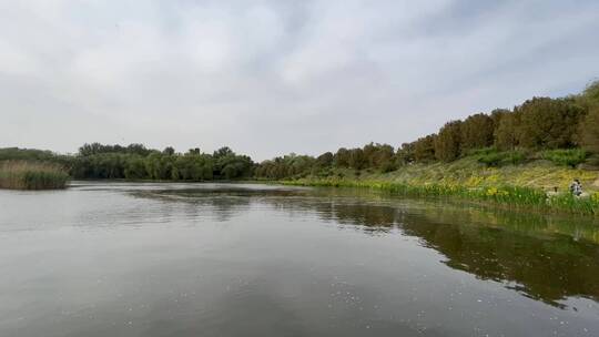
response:
M290 154L262 162L261 178L327 175L333 168L389 172L412 163L453 162L477 151L541 152L581 149L599 155L599 81L566 98L532 98L512 110L496 109L449 121L438 132L397 150L388 144L326 152L319 156ZM510 159L519 157L510 155Z

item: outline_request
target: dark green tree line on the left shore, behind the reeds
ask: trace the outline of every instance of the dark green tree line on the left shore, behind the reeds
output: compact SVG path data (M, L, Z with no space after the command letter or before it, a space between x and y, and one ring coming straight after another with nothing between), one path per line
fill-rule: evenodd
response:
M252 177L254 162L230 147L212 154L200 149L176 153L171 146L163 151L146 149L142 144L103 145L84 144L75 155L57 155L49 151L0 149L0 161L24 160L58 162L74 178L129 178L167 181L212 181Z

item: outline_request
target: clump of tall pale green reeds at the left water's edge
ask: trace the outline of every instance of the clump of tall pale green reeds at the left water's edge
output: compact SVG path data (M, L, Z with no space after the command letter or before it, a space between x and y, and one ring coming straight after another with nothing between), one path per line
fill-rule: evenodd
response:
M69 174L59 165L39 162L0 162L0 188L65 188Z

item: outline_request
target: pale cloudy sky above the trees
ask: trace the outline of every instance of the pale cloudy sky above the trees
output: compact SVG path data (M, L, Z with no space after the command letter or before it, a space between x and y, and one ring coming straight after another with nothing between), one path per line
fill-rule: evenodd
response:
M0 0L0 147L394 146L599 76L599 1Z

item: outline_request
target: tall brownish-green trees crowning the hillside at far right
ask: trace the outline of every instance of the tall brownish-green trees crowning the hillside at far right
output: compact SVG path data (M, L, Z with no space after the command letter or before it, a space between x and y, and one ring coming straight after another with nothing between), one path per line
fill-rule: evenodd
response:
M473 150L542 151L583 147L599 153L599 82L581 94L534 98L511 111L477 113L450 121L437 133L402 145L407 161L451 162Z

